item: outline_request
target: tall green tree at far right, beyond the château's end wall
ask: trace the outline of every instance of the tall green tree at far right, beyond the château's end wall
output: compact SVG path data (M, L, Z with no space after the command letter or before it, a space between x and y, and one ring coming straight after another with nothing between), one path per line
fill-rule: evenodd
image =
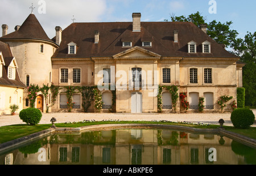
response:
M232 44L233 53L241 57L243 67L243 87L245 87L245 105L256 106L256 32L247 32L243 39Z

